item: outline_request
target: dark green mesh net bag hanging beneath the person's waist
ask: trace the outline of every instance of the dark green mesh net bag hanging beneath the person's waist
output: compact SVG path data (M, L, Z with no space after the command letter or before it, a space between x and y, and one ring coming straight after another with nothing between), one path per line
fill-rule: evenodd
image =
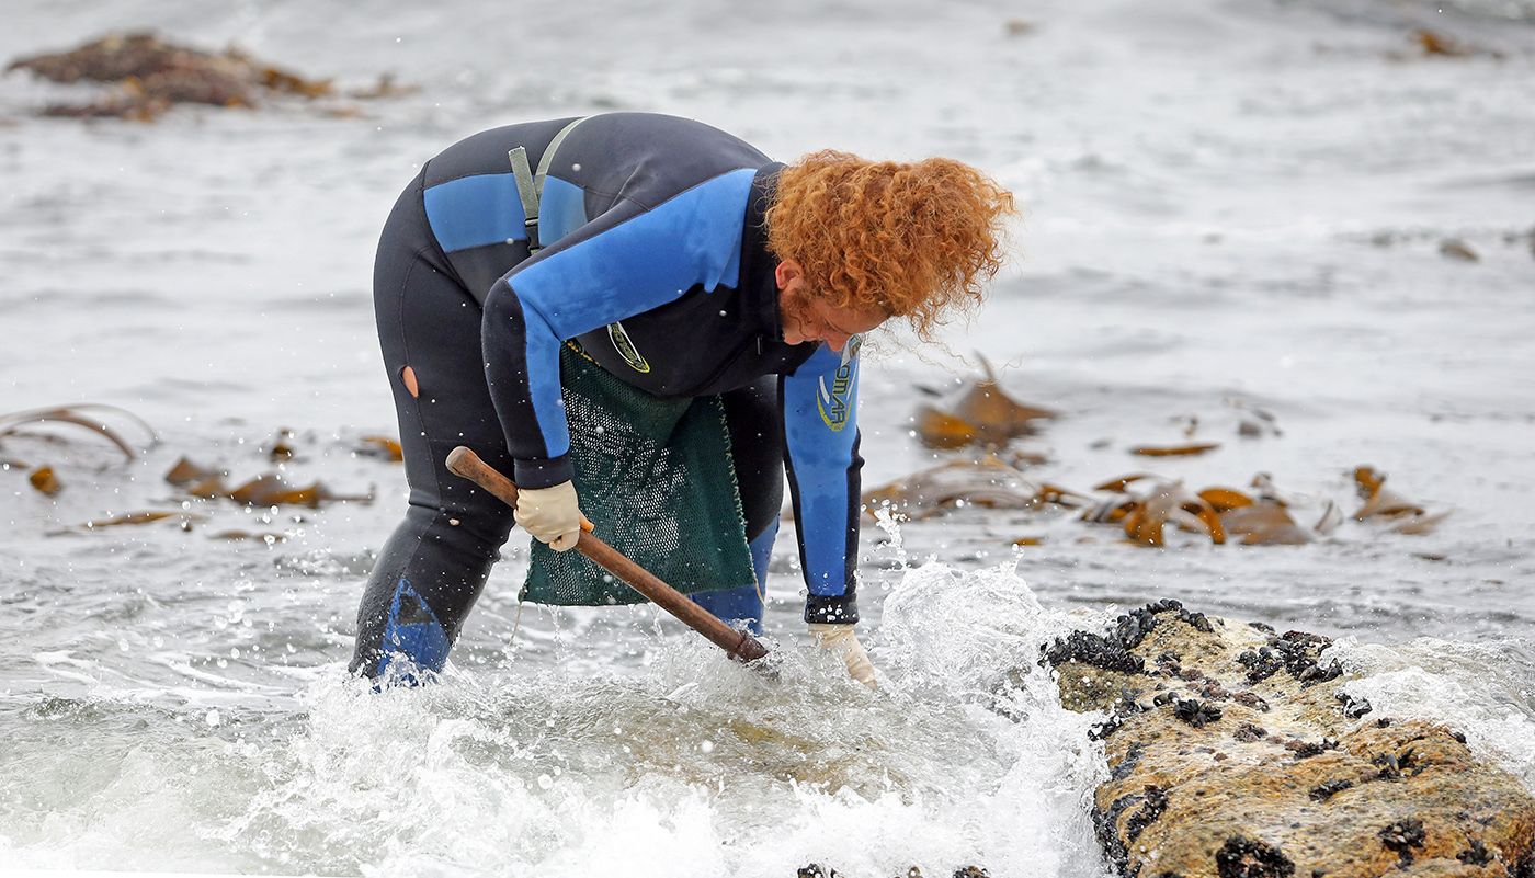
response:
M720 399L651 396L571 345L560 350L560 382L576 491L597 536L685 594L754 583ZM645 602L586 556L537 540L522 599Z

